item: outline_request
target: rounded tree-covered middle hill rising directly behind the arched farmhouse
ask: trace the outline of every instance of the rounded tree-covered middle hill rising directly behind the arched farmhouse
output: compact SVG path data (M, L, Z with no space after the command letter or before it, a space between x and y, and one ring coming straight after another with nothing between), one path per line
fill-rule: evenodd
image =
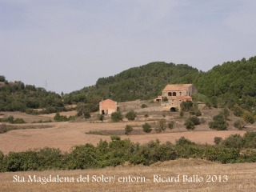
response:
M98 78L95 86L67 94L64 99L66 102L81 102L82 96L89 94L117 102L151 99L161 94L167 83L191 83L197 75L198 70L188 65L151 62L114 76Z

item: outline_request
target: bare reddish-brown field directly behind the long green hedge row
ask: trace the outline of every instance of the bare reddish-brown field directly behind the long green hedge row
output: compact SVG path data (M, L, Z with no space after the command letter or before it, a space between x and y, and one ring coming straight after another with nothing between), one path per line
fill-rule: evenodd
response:
M144 122L129 122L130 125ZM90 130L124 130L126 122L118 123L90 123L90 122L51 122L40 125L52 125L53 128L36 130L11 130L0 134L0 150L7 154L10 151L23 151L46 146L70 150L72 146L92 143L96 145L100 139L110 141L110 136L86 134ZM28 125L28 124L26 124ZM35 125L35 124L33 124ZM193 142L214 143L214 137L226 138L230 134L244 134L241 130L202 130L171 132L162 134L142 134L122 136L130 138L132 142L145 143L150 140L159 139L161 142L175 142L176 139L184 136Z

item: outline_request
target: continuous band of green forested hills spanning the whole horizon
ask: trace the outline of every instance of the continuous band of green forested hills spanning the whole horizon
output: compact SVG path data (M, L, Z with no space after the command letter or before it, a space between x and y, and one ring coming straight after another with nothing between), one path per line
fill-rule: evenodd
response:
M98 110L98 102L112 98L117 102L134 99L153 99L162 94L166 84L193 83L198 89L195 99L210 106L235 104L254 111L256 107L256 56L236 62L224 62L207 72L186 64L151 62L124 70L120 74L98 78L94 86L70 94L53 92L24 85L22 82L7 82L0 76L0 111L30 111L33 108L47 108L46 112L66 110L68 104L83 103L90 111Z

